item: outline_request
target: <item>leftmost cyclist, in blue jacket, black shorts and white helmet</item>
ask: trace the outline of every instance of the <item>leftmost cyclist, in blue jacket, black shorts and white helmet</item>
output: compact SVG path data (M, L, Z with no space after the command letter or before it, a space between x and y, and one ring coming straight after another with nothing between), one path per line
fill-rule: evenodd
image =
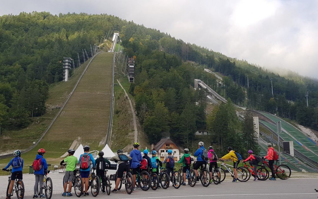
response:
M13 189L13 184L14 181L17 179L22 180L22 169L23 169L23 158L21 158L21 151L20 150L15 150L13 152L14 158L10 160L8 165L4 167L2 170L5 171L7 168L12 166L12 171L11 171L11 181L9 185L9 191L8 191L8 196L6 199L11 199L11 193Z

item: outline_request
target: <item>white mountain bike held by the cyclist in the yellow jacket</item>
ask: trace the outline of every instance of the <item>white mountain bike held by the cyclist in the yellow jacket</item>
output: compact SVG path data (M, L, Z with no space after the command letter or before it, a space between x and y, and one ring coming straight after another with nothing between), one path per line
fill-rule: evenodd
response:
M232 165L229 164L225 164L224 161L220 160L221 165L219 167L219 171L220 171L220 182L223 182L226 176L225 170L222 167L225 167L225 169L231 174L232 178L234 178L234 171L232 172L230 167L233 167ZM227 167L228 166L228 167ZM234 168L234 167L233 167ZM238 174L238 181L240 182L246 182L248 179L248 174L249 171L247 170L247 168L245 167L238 167L236 169L237 174Z

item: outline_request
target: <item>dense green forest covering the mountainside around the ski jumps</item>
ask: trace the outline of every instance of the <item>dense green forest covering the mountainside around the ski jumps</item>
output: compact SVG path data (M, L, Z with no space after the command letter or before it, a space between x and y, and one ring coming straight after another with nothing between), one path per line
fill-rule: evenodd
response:
M318 130L315 80L297 75L286 78L246 60L185 43L168 33L115 16L49 12L0 17L2 128L22 128L30 124L32 117L42 115L46 111L48 89L63 79L60 62L63 56L77 60L82 49L91 56L90 45L99 44L110 32L119 32L126 55L136 56L136 77L130 93L150 143L159 141L161 132L169 130L178 144L190 146L194 133L207 129L212 132L207 142L221 150L230 144L240 150L246 147L257 150L251 133L251 115L246 115L245 122L238 121L232 103L276 113ZM84 61L81 55L79 58ZM78 67L77 61L75 65ZM204 68L223 75L222 85ZM273 78L273 96L270 78ZM193 89L194 79L203 80L228 98L229 103L207 116L207 91ZM309 90L309 107L304 98L306 90ZM218 121L218 115L228 123Z

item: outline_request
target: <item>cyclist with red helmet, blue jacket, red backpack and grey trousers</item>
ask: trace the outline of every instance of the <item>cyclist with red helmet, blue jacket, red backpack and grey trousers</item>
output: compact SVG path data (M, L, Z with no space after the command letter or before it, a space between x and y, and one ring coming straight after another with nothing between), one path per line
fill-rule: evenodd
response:
M33 198L38 197L38 184L40 183L40 198L45 198L45 194L43 194L43 178L44 178L44 171L47 170L47 163L46 160L43 158L43 155L45 153L45 149L40 148L38 150L38 155L35 158L35 160L40 161L40 165L42 166L40 170L36 171L34 170L35 175L35 184L34 184L34 195ZM41 160L40 160L41 159Z

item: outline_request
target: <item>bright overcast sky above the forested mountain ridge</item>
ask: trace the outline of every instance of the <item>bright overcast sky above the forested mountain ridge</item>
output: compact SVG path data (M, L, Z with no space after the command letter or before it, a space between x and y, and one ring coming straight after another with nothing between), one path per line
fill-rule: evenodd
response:
M315 0L1 1L0 15L21 11L107 13L265 68L318 78Z

